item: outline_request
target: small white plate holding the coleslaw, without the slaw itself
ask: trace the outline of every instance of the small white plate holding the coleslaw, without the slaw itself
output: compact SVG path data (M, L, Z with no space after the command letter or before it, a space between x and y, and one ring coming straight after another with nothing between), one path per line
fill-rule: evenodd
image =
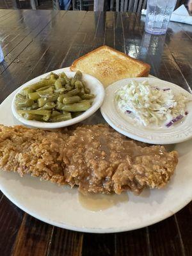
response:
M171 88L176 93L185 93L191 97L191 94L180 86L151 77L127 78L117 81L106 88L104 103L100 108L102 116L113 129L134 140L152 144L179 143L192 138L192 102L188 103L189 114L183 118L182 122L171 127L144 127L138 122L133 122L132 118L124 118L124 115L116 107L115 93L131 80L138 82L148 81L152 86Z

